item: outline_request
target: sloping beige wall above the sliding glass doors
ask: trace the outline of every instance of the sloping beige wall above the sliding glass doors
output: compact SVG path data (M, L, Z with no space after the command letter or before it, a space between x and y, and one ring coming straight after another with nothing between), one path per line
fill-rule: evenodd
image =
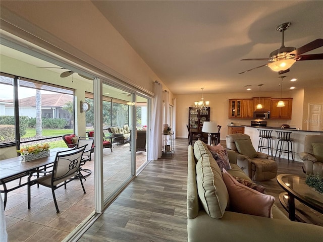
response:
M103 71L150 92L153 81L163 83L91 1L1 1L0 4L2 19L78 58L86 58L86 62ZM170 93L170 103L172 99Z

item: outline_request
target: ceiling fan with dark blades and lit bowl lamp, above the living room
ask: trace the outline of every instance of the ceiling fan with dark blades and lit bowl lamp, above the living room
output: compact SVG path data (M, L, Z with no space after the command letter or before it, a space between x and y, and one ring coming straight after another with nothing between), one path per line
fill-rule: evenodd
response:
M252 59L241 59L241 61L267 61L265 65L252 68L250 70L241 72L246 73L253 69L260 67L269 67L279 74L289 72L289 68L297 61L309 61L312 59L323 59L323 53L319 54L303 54L313 49L323 46L323 39L315 39L299 48L285 47L284 45L284 32L288 29L291 23L283 23L277 26L277 30L282 32L282 46L279 49L274 50L270 53L269 58L252 58ZM303 55L302 55L303 54Z

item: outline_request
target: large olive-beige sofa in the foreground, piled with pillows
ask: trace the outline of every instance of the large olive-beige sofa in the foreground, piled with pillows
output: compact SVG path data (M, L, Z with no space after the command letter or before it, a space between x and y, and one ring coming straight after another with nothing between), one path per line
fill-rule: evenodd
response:
M196 141L194 148L191 145L188 147L188 241L321 241L323 227L290 221L275 205L272 207L273 218L233 212L228 208L221 218L209 216L199 199L198 186L201 181L196 173L197 161L209 153L201 141ZM236 164L236 153L230 150L227 153L232 167L228 172L251 180ZM221 196L221 191L219 193Z

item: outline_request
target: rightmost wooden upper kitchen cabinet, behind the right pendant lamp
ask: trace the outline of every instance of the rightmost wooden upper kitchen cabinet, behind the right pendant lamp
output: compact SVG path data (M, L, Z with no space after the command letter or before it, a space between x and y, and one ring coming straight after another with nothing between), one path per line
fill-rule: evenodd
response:
M293 98L282 98L285 107L277 107L280 98L271 99L271 119L292 119Z

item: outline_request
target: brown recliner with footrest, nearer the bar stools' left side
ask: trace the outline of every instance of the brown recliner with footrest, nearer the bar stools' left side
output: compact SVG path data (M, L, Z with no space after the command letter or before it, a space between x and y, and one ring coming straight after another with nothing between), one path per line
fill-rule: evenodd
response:
M247 134L227 136L227 148L237 153L237 165L253 180L261 181L275 178L278 165L264 153L257 152Z

